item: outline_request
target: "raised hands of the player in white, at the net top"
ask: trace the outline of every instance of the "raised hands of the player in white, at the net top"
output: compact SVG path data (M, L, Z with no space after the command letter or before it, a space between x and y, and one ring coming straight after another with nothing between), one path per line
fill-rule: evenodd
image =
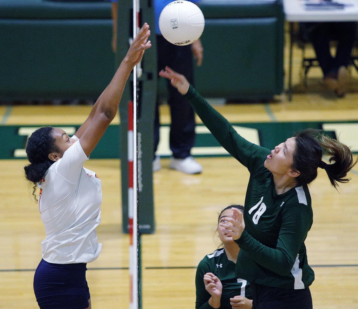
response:
M144 25L142 26L142 28L140 28L139 32L134 38L125 57L125 60L129 62L133 67L135 67L142 60L144 51L152 46L152 44L150 44L150 41L148 41L149 35L149 25L147 23L144 23Z

